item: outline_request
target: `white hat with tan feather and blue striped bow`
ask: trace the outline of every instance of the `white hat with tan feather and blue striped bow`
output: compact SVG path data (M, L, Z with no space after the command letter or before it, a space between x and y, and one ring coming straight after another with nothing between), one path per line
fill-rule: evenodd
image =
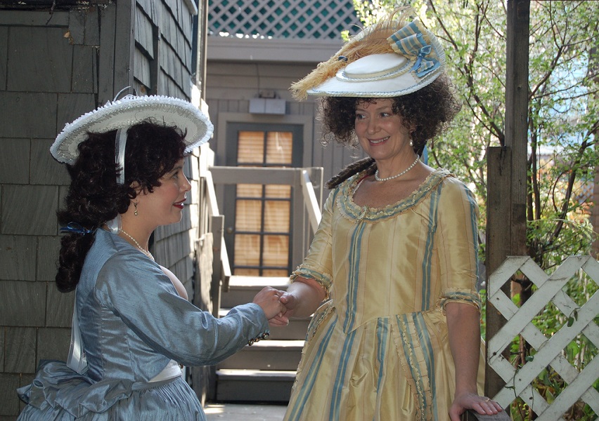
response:
M445 53L422 23L404 20L411 13L410 8L399 8L356 34L332 58L292 85L295 97L392 98L416 92L437 79L445 68Z

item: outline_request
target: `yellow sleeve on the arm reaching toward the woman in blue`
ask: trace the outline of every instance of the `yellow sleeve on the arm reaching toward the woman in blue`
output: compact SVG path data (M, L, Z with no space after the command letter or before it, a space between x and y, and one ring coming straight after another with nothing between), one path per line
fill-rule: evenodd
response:
M328 298L331 284L333 282L333 234L331 232L331 220L333 219L333 207L339 187L333 190L323 206L321 223L316 229L314 239L310 244L308 254L302 265L291 274L290 281L293 282L298 276L314 279L318 282Z

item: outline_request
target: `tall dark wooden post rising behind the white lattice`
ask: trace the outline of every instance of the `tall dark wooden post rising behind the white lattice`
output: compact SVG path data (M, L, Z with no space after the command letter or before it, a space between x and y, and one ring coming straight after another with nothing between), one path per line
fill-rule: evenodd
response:
M527 255L529 20L529 0L508 0L505 147L489 148L487 162L487 275L508 255ZM506 284L502 289L509 295L509 288ZM501 314L487 302L487 338L492 338L504 323ZM485 394L495 396L504 385L487 365Z

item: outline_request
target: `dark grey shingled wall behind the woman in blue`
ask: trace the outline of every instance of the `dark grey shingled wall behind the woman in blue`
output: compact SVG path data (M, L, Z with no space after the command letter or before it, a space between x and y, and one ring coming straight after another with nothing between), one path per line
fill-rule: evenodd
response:
M39 360L66 359L70 343L74 295L53 283L56 210L69 178L49 154L53 139L124 86L191 99L192 82L200 83L191 79L190 1L91 1L53 13L26 3L0 6L0 421L16 419L15 389L31 382ZM181 225L155 232L153 246L191 297L199 154L187 160L192 204Z

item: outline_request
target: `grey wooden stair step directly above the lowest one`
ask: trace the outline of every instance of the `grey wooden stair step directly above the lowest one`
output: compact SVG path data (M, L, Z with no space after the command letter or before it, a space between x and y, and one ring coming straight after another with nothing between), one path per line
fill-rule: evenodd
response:
M217 368L295 371L302 357L303 340L261 340L221 361Z

